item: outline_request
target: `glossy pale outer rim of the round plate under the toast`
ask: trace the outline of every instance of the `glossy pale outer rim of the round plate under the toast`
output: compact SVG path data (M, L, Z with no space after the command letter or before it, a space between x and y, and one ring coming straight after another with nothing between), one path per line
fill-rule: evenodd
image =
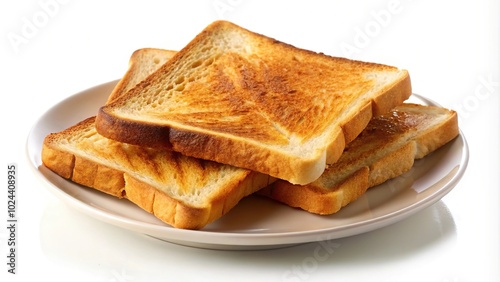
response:
M61 105L64 105L65 103L68 103L73 99L78 99L80 96L89 95L90 93L98 91L99 89L114 86L118 81L119 79L112 80L109 82L101 83L93 87L87 88L83 91L77 92L59 101L58 103L50 107L47 111L45 111L36 120L36 122L33 124L32 128L28 133L28 137L26 139L26 144L25 144L26 157L28 158L28 162L30 164L30 168L32 169L33 173L44 184L44 186L48 188L52 192L52 194L55 195L59 200L62 200L66 204L69 203L71 207L76 208L80 212L84 212L85 214L94 217L98 220L104 221L108 224L119 226L121 228L128 229L130 231L149 235L153 238L171 243L188 245L199 248L222 249L222 250L269 249L269 248L279 248L283 246L290 246L302 243L310 243L315 241L338 239L338 238L366 233L369 231L373 231L375 229L391 225L402 219L405 219L442 199L461 180L467 169L467 165L469 162L469 147L467 144L467 140L462 130L459 129L459 135L457 136L457 138L451 141L451 142L458 142L457 140L460 140L460 142L462 142L461 146L462 156L460 158L459 167L458 170L451 177L451 179L447 180L446 183L440 189L437 189L431 195L424 197L419 201L415 201L411 205L405 206L404 208L401 208L394 212L384 214L382 216L373 217L367 220L363 220L361 222L350 223L344 226L335 226L330 228L323 228L319 230L309 230L309 231L291 231L291 232L274 232L274 233L267 233L267 232L228 233L219 231L177 229L167 224L165 224L165 226L160 226L148 222L141 222L132 218L106 213L104 210L95 208L89 205L88 203L85 203L82 200L69 195L68 193L63 191L60 187L58 187L56 184L47 179L47 177L37 167L37 160L35 159L35 157L40 156L41 152L30 151L31 150L30 143L33 141L32 138L37 129L37 126L40 126L42 121L46 119L55 109L61 107ZM415 96L417 99L423 101L428 105L440 106L435 101L427 97L424 97L422 95L412 93L412 96ZM41 160L38 161L39 165L41 165ZM54 176L58 177L56 174L54 174ZM62 178L61 180L71 182L69 180ZM147 230L144 230L144 228ZM165 233L168 233L167 234L169 235L168 238L164 237ZM228 238L228 236L230 236L230 238Z

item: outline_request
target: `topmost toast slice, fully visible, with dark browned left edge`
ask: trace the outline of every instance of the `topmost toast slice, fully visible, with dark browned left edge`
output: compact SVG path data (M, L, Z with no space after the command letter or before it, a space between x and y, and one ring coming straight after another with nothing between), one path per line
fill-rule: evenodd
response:
M102 107L96 128L117 141L306 184L372 116L410 95L405 70L314 53L217 21Z

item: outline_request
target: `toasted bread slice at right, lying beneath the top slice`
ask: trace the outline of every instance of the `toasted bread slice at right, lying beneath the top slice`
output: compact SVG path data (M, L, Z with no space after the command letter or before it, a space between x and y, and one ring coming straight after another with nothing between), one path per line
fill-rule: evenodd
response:
M276 181L258 194L317 214L333 214L369 187L402 175L458 135L454 111L403 104L373 118L339 161L305 186Z

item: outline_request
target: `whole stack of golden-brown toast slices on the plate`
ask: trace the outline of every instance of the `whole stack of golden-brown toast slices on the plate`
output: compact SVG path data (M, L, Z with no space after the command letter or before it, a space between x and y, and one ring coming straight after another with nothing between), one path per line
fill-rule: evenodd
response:
M43 144L43 164L202 229L258 194L332 214L458 135L408 104L408 72L303 50L227 21L178 52L144 48L96 116Z

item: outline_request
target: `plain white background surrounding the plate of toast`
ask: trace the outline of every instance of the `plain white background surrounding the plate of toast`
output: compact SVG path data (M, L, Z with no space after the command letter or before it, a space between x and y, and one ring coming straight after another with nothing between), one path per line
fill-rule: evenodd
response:
M31 126L52 105L121 77L138 48L180 49L227 19L301 48L408 69L415 93L459 111L470 146L466 174L441 201L335 240L335 252L295 281L500 281L499 11L495 0L2 1L0 218L14 162L19 250L10 275L2 227L1 280L282 281L313 255L317 243L224 252L125 231L63 205L26 160Z

